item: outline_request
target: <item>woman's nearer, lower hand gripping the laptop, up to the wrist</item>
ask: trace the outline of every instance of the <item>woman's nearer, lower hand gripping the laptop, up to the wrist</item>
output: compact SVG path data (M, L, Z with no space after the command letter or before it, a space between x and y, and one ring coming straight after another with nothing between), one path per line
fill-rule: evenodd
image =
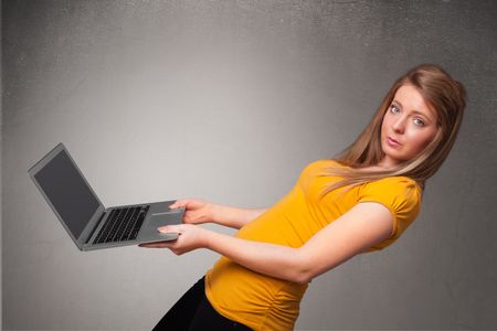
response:
M193 224L167 225L158 228L161 233L178 233L178 239L141 244L147 248L169 248L176 255L182 255L198 248L205 248L209 243L210 231Z

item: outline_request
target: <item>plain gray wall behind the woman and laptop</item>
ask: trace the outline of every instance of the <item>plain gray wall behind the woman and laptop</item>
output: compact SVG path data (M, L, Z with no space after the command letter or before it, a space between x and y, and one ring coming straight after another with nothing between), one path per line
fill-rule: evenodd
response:
M106 205L271 205L424 62L467 86L454 151L403 238L315 279L297 328L497 328L496 17L496 1L3 1L3 328L148 330L218 258L78 252L27 174L55 143Z

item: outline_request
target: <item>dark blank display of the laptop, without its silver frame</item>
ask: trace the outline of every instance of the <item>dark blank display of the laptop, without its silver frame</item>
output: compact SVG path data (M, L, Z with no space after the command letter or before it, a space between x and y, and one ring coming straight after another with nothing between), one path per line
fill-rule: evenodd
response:
M43 167L34 178L77 239L99 203L65 150Z

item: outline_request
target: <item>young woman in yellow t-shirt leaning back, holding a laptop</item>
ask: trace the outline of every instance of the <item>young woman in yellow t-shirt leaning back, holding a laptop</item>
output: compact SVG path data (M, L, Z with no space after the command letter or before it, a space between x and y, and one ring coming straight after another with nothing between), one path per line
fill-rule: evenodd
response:
M308 282L357 254L394 243L420 212L425 181L454 145L465 89L436 65L400 77L359 138L334 160L307 166L271 209L180 200L175 242L146 245L181 255L222 255L155 330L292 330ZM235 236L195 224L240 229Z

